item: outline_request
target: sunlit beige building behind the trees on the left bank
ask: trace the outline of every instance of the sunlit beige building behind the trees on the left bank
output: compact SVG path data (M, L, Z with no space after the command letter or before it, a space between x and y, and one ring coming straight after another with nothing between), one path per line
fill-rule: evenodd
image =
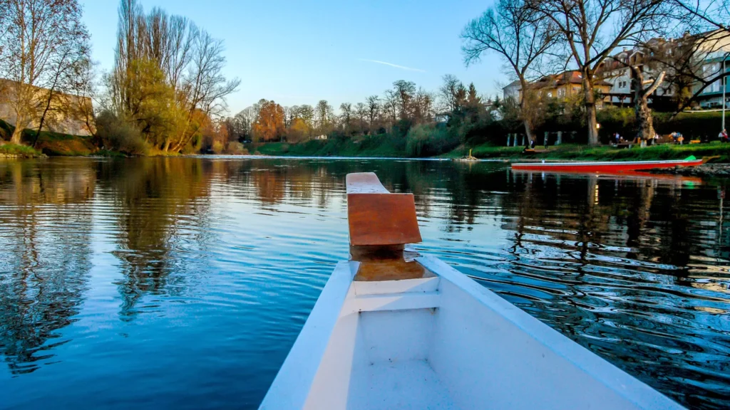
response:
M12 90L17 86L18 82L12 80L0 79L0 120L4 120L6 123L15 125L17 117L15 110L12 108ZM36 94L38 101L37 105L40 110L45 108L45 98L49 90L46 88L36 88L34 93ZM93 134L87 125L91 124L93 128L93 106L91 98L74 96L71 94L60 93L54 91L56 98L50 104L45 121L44 129L46 131L54 131L61 134L72 134L79 136L89 136ZM38 128L40 121L40 115L31 121L28 128Z

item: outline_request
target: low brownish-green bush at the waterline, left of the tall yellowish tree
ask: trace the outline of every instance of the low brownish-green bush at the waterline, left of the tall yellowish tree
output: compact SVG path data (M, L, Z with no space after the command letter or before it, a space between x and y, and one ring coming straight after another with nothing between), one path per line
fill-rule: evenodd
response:
M102 111L96 117L96 136L108 150L129 155L146 155L149 151L149 147L134 125L107 110Z

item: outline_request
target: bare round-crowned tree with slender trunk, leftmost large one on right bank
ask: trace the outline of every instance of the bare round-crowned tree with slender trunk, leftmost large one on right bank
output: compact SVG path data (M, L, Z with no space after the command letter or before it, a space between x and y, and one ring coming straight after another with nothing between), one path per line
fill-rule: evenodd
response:
M461 32L464 45L464 61L469 64L480 61L483 53L496 52L505 61L505 71L520 82L520 111L529 101L529 81L537 77L548 61L558 41L555 25L526 4L525 0L499 0L496 7L466 25ZM456 90L461 85L456 78L444 77L442 93L450 96L452 107L456 108ZM463 85L461 86L463 88ZM521 115L525 134L535 140L529 115Z

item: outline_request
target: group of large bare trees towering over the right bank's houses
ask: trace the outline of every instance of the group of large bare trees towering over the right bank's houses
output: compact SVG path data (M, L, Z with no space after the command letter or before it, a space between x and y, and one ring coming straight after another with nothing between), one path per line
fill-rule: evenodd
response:
M499 0L466 25L462 50L467 65L487 53L499 55L505 72L520 84L519 117L533 141L543 115L539 109L547 104L531 82L558 69L575 69L588 142L598 144L596 107L602 95L596 82L604 64L618 63L632 74L637 136L649 139L654 130L648 101L660 85L670 82L675 88L675 112L680 112L726 77L721 69L707 73L703 65L704 56L723 51L730 38L724 23L729 11L727 0ZM672 36L680 38L657 41ZM613 59L621 47L636 47L644 58Z

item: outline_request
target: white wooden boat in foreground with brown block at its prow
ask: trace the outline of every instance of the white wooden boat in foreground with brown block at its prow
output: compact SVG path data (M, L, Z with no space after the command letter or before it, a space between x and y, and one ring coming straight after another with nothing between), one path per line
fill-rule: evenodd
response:
M437 258L410 194L347 175L334 268L260 409L682 409Z

